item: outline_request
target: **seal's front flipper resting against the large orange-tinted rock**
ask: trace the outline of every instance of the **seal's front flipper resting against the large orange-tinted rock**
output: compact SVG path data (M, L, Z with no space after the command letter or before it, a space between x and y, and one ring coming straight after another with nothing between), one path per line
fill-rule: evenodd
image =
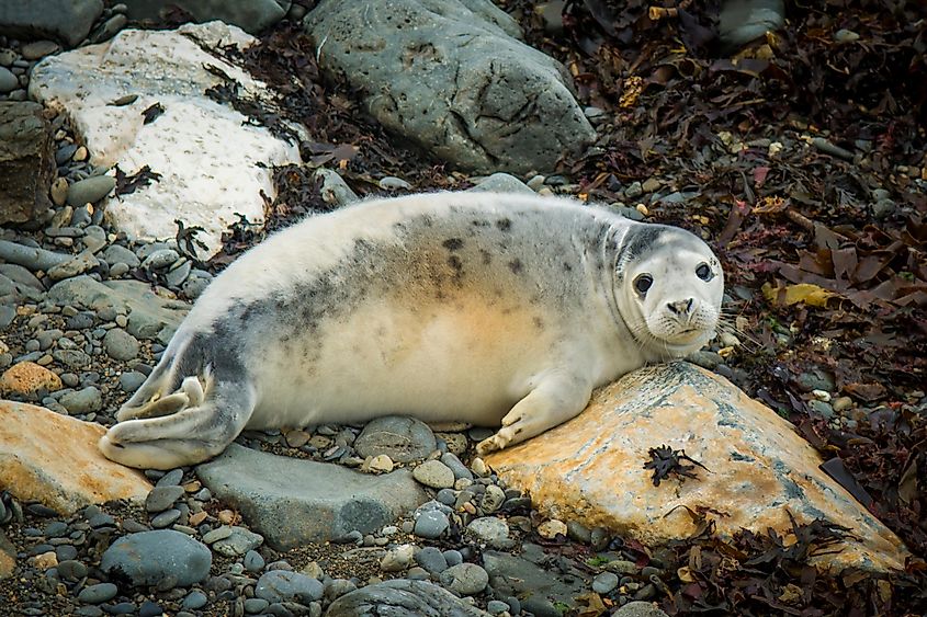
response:
M586 408L592 386L573 375L547 377L502 418L502 427L476 446L476 454L512 446L563 424Z

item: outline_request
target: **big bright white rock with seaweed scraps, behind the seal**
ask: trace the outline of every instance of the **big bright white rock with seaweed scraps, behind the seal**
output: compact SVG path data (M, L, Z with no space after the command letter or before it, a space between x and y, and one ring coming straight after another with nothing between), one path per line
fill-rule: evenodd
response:
M210 253L224 229L237 220L263 220L260 192L273 196L270 172L258 167L298 162L298 148L265 128L246 124L228 105L204 94L221 83L205 67L235 79L248 95L265 95L267 85L200 48L190 37L215 48L256 39L221 22L186 24L177 31L125 30L101 45L46 58L33 69L30 93L66 110L83 137L94 165L118 164L128 174L149 165L158 182L118 198L106 212L139 238L172 238L174 219L199 225ZM109 105L128 94L138 99ZM160 103L163 113L144 124L143 112Z

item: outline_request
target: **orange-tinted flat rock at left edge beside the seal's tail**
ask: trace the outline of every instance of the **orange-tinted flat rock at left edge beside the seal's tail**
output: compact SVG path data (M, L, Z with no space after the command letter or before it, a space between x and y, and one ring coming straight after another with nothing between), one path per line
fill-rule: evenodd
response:
M151 484L100 453L100 424L45 408L0 401L0 489L61 513L91 503L143 501Z

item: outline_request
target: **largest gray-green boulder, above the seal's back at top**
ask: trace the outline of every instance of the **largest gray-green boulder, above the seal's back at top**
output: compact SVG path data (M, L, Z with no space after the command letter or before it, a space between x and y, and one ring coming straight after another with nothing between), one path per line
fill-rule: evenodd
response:
M595 139L556 60L488 0L323 0L319 66L388 130L473 172L550 172Z

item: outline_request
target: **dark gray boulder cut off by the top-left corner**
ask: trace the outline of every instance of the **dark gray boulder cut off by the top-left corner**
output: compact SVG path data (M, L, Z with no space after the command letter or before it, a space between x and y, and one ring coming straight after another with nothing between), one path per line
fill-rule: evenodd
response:
M55 38L74 47L103 13L103 0L0 0L0 34Z

